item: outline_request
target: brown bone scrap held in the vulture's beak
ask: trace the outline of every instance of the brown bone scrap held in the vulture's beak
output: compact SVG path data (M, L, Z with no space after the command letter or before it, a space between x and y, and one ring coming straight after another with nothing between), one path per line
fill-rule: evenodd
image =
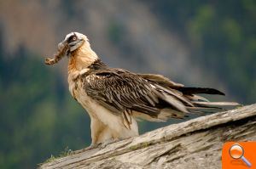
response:
M60 42L58 44L58 52L57 54L54 55L54 59L46 58L44 63L46 65L54 65L58 63L58 61L60 61L65 55L67 48L68 48L67 42Z

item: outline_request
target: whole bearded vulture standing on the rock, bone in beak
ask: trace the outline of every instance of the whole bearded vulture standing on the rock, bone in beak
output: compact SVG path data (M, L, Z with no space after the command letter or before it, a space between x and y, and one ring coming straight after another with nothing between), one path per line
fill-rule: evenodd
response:
M200 95L224 95L214 88L185 87L166 76L110 68L92 50L88 37L79 32L68 33L54 58L46 58L45 64L54 65L65 56L69 92L90 116L90 146L138 136L138 120L183 119L239 105L210 102Z

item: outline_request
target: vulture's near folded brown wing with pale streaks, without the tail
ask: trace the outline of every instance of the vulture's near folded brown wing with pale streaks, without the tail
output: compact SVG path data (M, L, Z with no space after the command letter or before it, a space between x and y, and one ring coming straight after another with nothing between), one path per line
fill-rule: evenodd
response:
M136 110L154 118L165 107L186 112L182 101L126 70L95 70L84 77L85 92L115 114Z

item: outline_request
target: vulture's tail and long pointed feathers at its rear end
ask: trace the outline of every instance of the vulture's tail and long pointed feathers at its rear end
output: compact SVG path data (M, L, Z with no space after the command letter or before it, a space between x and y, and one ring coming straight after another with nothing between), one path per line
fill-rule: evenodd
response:
M198 94L225 95L214 88L208 87L184 87L183 84L172 82L161 75L138 74L151 82L154 93L159 99L164 100L164 109L160 110L158 118L166 121L168 118L183 118L189 114L205 115L220 110L230 110L240 106L236 102L210 102Z

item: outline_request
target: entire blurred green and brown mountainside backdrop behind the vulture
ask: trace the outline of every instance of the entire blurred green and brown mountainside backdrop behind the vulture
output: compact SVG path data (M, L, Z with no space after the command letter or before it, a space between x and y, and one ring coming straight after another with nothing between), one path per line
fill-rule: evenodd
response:
M44 57L70 31L112 67L160 73L213 99L256 99L256 1L0 1L0 168L34 168L90 144L90 119L67 88L67 59ZM146 132L173 122L140 122Z

